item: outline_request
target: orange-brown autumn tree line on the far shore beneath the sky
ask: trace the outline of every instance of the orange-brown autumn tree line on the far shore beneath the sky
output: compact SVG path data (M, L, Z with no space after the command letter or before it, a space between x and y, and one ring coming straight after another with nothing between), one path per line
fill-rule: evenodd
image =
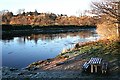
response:
M2 24L17 25L96 25L98 17L96 16L67 16L64 14L24 12L19 10L14 15L8 10L2 11Z

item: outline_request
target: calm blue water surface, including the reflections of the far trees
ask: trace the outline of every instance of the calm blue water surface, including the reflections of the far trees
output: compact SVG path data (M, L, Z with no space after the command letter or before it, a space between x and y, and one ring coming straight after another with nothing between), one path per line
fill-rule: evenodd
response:
M95 30L5 37L0 40L2 43L2 65L23 68L38 60L54 58L63 49L74 47L77 42L93 41L98 38Z

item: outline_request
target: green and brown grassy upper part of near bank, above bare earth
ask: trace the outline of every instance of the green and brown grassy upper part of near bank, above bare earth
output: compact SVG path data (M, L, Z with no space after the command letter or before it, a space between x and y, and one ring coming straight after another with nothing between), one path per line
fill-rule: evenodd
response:
M91 57L100 57L107 60L110 64L110 71L120 71L120 42L111 40L99 40L88 42L82 45L76 44L75 48L66 53L61 53L57 57L78 57L89 60Z

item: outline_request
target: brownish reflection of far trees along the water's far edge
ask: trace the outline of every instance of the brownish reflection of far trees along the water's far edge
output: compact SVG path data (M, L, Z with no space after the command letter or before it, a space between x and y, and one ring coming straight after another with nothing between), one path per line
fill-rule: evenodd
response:
M34 40L34 42L37 44L38 40L42 40L42 41L52 41L54 39L57 38L65 38L68 35L70 37L75 37L75 36L79 36L80 38L89 38L91 36L95 36L94 34L95 31L90 31L90 30L84 30L84 31L80 31L80 32L68 32L68 33L59 33L59 34L31 34L31 35L21 35L21 36L6 36L3 35L2 40L3 41L13 41L14 37L19 37L19 39L17 40L20 44L25 44L27 41L31 41Z

